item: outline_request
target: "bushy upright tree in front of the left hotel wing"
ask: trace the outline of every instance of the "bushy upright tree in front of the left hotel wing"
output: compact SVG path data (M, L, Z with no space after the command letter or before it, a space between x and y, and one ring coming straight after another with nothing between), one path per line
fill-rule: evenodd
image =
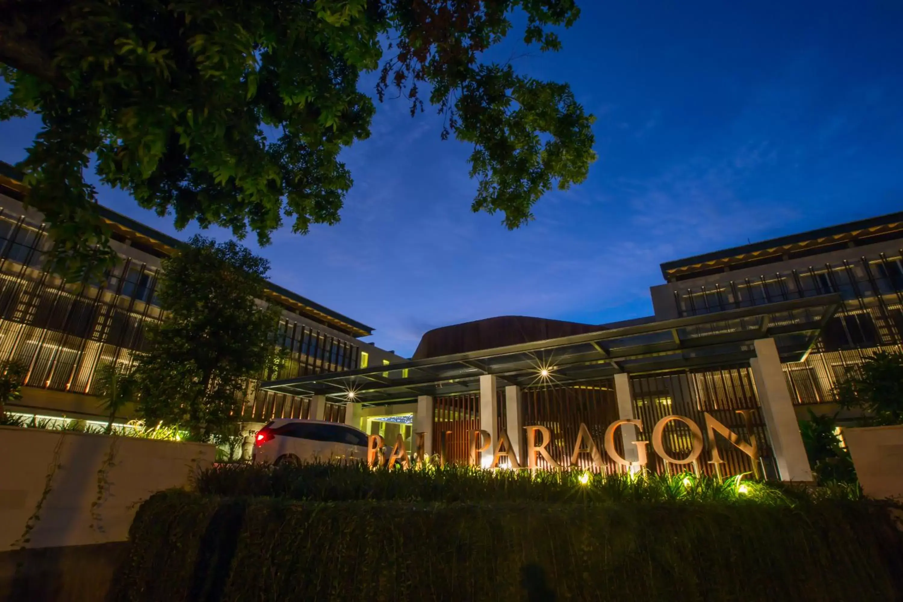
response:
M178 424L200 439L237 421L250 379L278 359L279 309L260 307L268 262L233 241L194 236L163 260L163 323L140 357L138 412L147 423Z

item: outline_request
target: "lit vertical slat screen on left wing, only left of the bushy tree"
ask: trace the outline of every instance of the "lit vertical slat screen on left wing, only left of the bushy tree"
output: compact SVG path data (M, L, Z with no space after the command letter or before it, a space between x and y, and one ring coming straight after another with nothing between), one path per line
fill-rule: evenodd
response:
M162 318L144 264L126 260L106 286L67 284L42 269L49 242L24 218L0 218L0 246L0 358L28 366L24 384L90 394L98 364L130 365Z

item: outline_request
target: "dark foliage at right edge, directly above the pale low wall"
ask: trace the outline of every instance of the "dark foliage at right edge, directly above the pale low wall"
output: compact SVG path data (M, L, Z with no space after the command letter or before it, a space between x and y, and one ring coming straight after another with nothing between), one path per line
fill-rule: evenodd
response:
M866 412L870 424L903 424L903 353L866 357L838 385L837 399L844 408Z

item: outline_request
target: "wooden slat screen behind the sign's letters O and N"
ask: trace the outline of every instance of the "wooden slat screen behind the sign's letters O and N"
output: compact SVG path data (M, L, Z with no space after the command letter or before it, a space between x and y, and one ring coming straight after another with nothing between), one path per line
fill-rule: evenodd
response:
M693 420L704 433L703 412L709 412L713 418L721 421L731 431L738 433L741 437L746 437L743 417L736 411L751 411L751 426L753 436L759 445L761 464L764 465L768 476L774 476L774 458L768 445L759 399L756 396L748 366L636 376L630 379L630 386L633 392L635 415L643 421L643 431L638 432L639 440L650 441L656 422L669 414L678 414ZM716 437L719 438L718 449L721 451L721 458L726 462L726 466L721 468L722 476L752 470L749 456L727 441L721 440L720 435L716 435ZM690 452L690 430L684 422L668 423L663 441L666 450L675 458L685 458ZM712 442L707 441L706 448L703 449L703 454L697 462L699 469L707 475L715 474L714 467L709 464L711 445ZM693 465L669 464L666 466L666 462L662 458L658 458L653 451L651 443L647 449L649 452L648 468L654 472L666 474L667 471L675 473L694 470Z

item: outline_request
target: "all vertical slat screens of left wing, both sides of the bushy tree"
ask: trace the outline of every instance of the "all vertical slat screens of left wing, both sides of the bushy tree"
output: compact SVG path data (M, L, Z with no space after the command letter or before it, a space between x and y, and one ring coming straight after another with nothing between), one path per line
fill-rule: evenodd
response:
M126 258L107 275L105 286L73 286L43 270L49 247L43 228L25 218L0 213L0 361L28 366L24 384L56 391L91 394L100 364L130 366L135 351L146 350L145 325L159 322L154 304L157 273ZM289 350L278 378L320 374L357 367L358 346L329 337L329 357L315 357L310 347L326 335L293 320L282 320L277 343ZM260 391L253 385L245 420L298 418L306 409L300 397ZM330 420L344 420L344 406L331 409Z

